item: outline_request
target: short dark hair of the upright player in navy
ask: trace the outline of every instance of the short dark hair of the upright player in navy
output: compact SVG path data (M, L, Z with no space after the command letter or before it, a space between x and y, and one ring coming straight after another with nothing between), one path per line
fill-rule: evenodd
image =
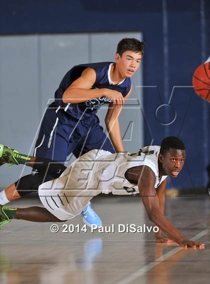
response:
M119 56L122 56L122 53L131 50L135 53L140 52L141 56L143 56L143 47L145 46L145 42L139 41L136 38L122 38L117 44L116 53L119 53Z

